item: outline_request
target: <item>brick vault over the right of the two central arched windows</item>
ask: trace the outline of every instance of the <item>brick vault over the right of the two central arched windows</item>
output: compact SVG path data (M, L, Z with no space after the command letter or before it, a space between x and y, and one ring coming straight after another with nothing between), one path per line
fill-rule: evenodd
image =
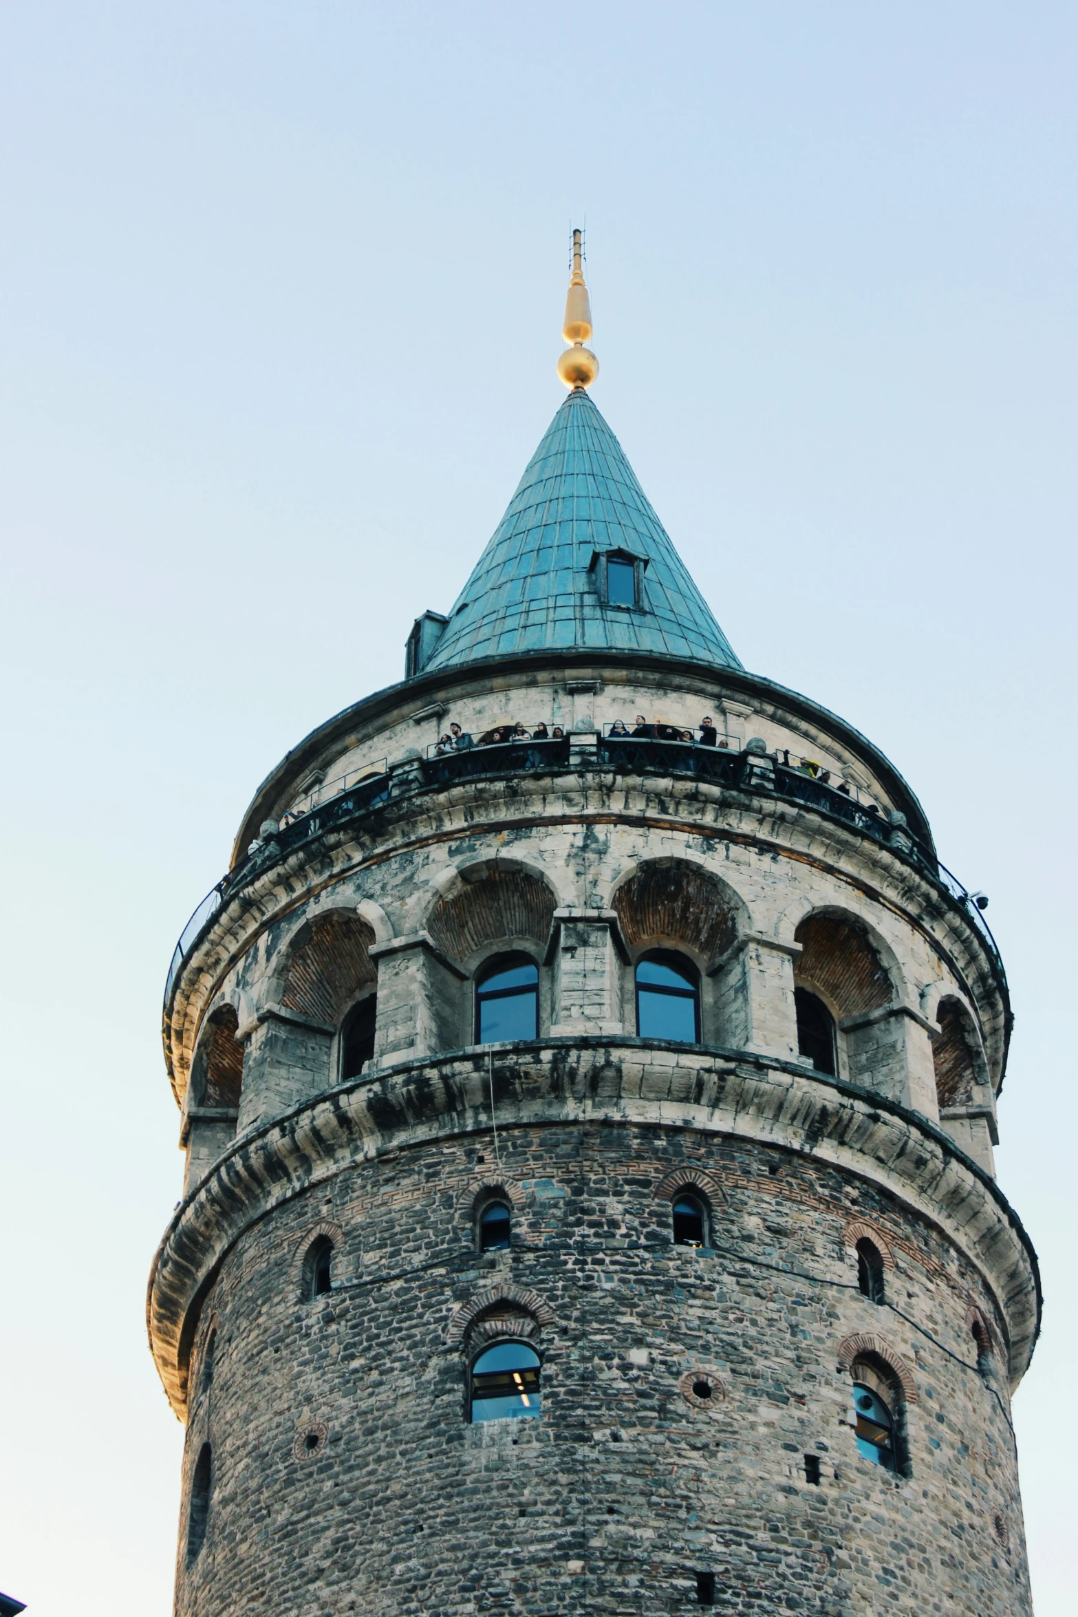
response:
M687 859L637 865L614 893L613 907L630 948L671 939L713 960L737 939L739 901L718 876Z

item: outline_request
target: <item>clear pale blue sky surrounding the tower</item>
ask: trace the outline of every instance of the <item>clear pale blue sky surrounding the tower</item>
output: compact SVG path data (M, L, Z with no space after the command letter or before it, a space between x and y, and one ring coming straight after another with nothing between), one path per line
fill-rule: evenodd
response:
M166 1617L144 1334L176 935L257 783L402 674L593 390L748 668L836 708L991 896L1015 1402L1073 1611L1073 5L0 5L0 1588Z

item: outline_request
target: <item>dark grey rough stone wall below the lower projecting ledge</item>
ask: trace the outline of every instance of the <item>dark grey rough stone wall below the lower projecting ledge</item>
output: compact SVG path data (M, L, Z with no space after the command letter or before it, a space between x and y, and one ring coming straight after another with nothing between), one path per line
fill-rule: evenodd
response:
M1005 1374L999 1347L978 1370L970 1310L1004 1324L936 1226L840 1169L684 1127L509 1127L499 1153L486 1132L346 1167L228 1252L191 1373L181 1617L676 1614L697 1572L724 1612L1030 1612ZM705 1252L671 1243L685 1174L711 1201ZM485 1184L514 1203L509 1253L475 1250ZM882 1307L857 1290L858 1221L891 1263ZM320 1231L335 1284L302 1302ZM491 1308L535 1332L538 1420L469 1425ZM857 1452L850 1337L908 1373L907 1478Z

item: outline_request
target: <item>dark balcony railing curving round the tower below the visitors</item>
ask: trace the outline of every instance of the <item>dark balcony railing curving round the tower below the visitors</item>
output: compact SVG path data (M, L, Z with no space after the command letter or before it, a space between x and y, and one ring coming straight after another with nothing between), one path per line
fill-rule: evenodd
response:
M609 731L609 726L608 726ZM803 760L797 766L787 752L734 752L722 745L701 745L693 741L655 741L621 734L559 736L541 741L511 741L475 744L462 749L432 749L432 757L402 758L378 773L356 771L356 784L335 797L323 797L309 812L286 815L268 841L286 854L291 849L320 836L335 825L368 813L390 799L411 796L417 791L454 786L457 781L477 778L504 778L519 775L551 773L587 768L611 770L616 775L680 775L726 786L735 791L766 792L789 802L803 804L850 826L861 836L889 847L900 859L916 865L931 881L936 881L973 922L996 965L1004 991L1007 973L987 922L968 889L945 865L941 865L933 849L921 842L905 825L902 815L884 813L868 802L863 792L819 765ZM811 773L815 770L816 773ZM824 779L824 776L827 776ZM352 776L347 776L352 779ZM335 784L335 783L330 783ZM326 787L320 789L323 796ZM262 868L262 842L252 844L247 857L236 865L217 886L207 893L194 915L179 935L165 983L165 1004L171 996L179 969L204 933L220 904L238 891L247 876Z

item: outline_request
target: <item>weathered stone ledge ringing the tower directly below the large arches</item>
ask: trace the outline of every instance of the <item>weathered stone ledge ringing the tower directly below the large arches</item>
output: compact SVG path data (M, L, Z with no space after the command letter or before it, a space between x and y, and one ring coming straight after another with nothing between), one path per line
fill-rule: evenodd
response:
M197 1308L257 1219L349 1166L448 1135L617 1121L734 1135L870 1179L978 1268L1017 1381L1039 1331L1036 1253L994 1180L926 1117L857 1085L747 1051L566 1038L454 1051L352 1080L236 1140L176 1211L154 1260L147 1326L178 1413Z

